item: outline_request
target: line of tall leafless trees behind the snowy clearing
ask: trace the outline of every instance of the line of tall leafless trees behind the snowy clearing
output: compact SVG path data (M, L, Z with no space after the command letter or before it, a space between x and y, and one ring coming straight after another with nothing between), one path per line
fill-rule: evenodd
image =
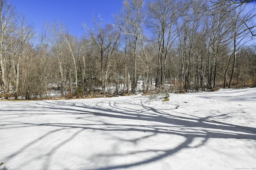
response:
M252 0L124 0L114 23L93 16L82 37L61 21L45 23L38 36L0 0L4 98L256 86L254 7Z

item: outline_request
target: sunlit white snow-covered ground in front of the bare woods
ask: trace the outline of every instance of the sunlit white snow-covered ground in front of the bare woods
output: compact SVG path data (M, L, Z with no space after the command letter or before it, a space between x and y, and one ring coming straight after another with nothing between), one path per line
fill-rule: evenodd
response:
M256 88L0 102L8 170L256 169Z

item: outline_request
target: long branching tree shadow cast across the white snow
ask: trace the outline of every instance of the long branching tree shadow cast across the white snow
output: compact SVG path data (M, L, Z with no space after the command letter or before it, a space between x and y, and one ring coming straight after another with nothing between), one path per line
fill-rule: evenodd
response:
M70 122L54 122L54 123L33 123L33 122L14 122L3 124L1 129L22 128L22 127L55 127L48 133L41 135L35 140L31 141L27 145L23 146L20 150L16 150L13 154L6 156L6 160L14 158L21 154L23 150L35 145L42 139L46 139L49 135L67 130L77 129L73 134L70 134L66 139L53 144L54 147L48 151L44 169L48 169L48 164L51 162L52 155L63 145L72 141L76 136L86 130L101 131L111 136L112 132L136 132L144 133L142 137L132 137L127 139L123 137L114 136L116 141L139 143L146 142L144 140L155 137L156 135L178 135L185 140L179 143L172 149L144 149L144 150L132 150L126 153L111 152L106 154L97 154L95 157L101 158L114 158L117 156L132 156L140 153L157 153L154 156L149 156L142 160L135 162L119 164L119 165L105 165L98 168L88 168L88 170L103 170L103 169L118 169L129 168L142 164L152 163L167 156L171 156L182 149L191 148L191 144L195 138L202 138L203 140L194 145L193 147L203 146L208 139L256 139L256 128L233 125L225 123L223 121L216 121L214 116L198 117L189 113L182 113L179 111L178 105L172 105L171 108L158 108L141 102L126 102L126 101L114 101L111 99L103 100L96 104L86 105L84 102L72 102L70 101L40 101L38 105L33 104L26 106L25 110L19 113L13 113L10 115L16 117L22 116L42 116L42 115L55 115L64 116L68 115L74 118L75 123ZM170 104L171 105L171 104ZM168 107L170 107L168 105ZM164 106L164 105L163 105ZM8 113L7 113L8 114ZM6 115L7 115L6 114ZM1 117L5 114L1 114ZM217 115L220 120L229 117L228 113ZM215 115L216 117L216 115ZM98 119L101 118L101 119ZM113 120L114 119L114 120ZM76 120L80 123L76 123ZM111 120L110 122L108 120ZM130 121L129 121L130 120ZM218 119L219 120L219 119ZM84 121L84 123L83 123ZM113 123L114 122L114 123ZM122 123L124 122L124 123ZM72 131L73 132L73 131ZM40 159L38 157L37 159ZM27 160L24 164L33 161ZM87 167L84 167L86 169Z

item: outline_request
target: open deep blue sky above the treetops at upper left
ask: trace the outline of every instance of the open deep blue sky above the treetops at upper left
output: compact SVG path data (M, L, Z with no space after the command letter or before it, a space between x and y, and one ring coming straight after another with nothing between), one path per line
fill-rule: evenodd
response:
M82 23L89 26L92 15L101 15L106 23L113 23L112 14L122 8L122 0L10 0L18 12L24 13L40 31L46 21L64 22L70 33L81 36Z

